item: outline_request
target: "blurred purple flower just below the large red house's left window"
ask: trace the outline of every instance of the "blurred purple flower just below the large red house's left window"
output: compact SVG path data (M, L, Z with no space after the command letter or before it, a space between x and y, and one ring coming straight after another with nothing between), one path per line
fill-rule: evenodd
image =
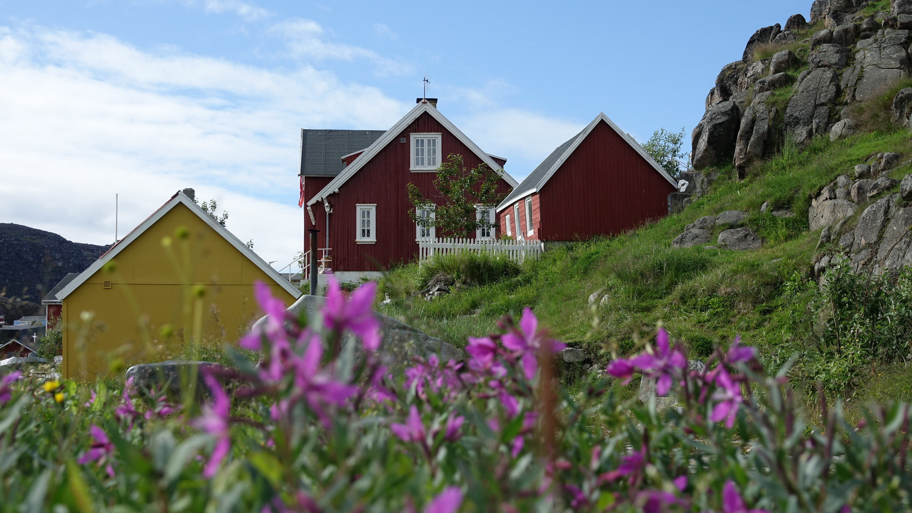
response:
M367 282L351 293L346 301L336 278L329 277L326 303L323 304L323 323L330 330L350 330L361 338L364 350L377 351L380 346L380 322L370 309L377 295L377 283Z

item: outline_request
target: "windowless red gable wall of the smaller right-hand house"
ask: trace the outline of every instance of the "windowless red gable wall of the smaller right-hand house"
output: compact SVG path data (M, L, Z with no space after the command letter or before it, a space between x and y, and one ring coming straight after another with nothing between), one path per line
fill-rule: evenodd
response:
M537 196L542 241L587 240L668 214L675 188L601 121Z

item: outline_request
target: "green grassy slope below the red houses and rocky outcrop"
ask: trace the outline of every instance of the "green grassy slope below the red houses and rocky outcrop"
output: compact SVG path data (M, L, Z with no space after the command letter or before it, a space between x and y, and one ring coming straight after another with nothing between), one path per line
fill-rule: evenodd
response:
M835 143L816 139L801 152L786 148L740 182L731 178L731 169L720 169L723 174L710 194L678 215L617 237L549 249L540 260L523 264L514 278L430 303L396 300L387 313L461 346L466 336L492 331L504 313L531 306L557 338L595 354L612 340L621 349L630 347L635 331L650 331L662 322L691 354L706 355L715 344L728 344L741 334L746 343L762 348L770 364L779 364L793 351L786 343L805 339L808 329L803 306L810 292L806 284L796 292L800 280L795 276L808 276L819 238L819 231L808 231L810 198L881 151L909 155L908 134L869 133ZM892 176L902 178L907 172L912 169L896 169ZM770 210L791 208L795 215L760 213L764 201ZM671 248L670 241L685 225L723 210L751 212L746 225L762 236L763 248ZM382 287L392 297L404 298L423 284L418 266L411 264L390 272ZM608 299L589 305L590 294L598 290ZM481 313L472 315L477 309ZM912 374L904 367L876 370L869 383L872 397L912 398Z

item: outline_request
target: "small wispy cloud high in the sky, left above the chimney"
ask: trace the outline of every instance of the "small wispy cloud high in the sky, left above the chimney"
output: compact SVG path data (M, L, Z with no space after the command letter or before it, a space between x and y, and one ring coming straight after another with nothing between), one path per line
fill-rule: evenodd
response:
M297 58L316 61L366 60L374 65L374 72L381 77L403 76L414 72L411 65L380 56L373 50L326 41L326 30L313 20L288 19L275 24L270 30L285 38L289 53Z

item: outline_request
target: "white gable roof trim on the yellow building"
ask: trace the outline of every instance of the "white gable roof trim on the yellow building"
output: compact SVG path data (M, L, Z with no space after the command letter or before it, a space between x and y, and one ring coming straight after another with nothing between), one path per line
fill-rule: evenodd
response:
M202 221L208 224L212 230L218 232L218 234L221 235L225 241L228 241L232 246L234 246L234 249L244 253L244 256L247 257L250 262L253 262L256 267L260 268L260 271L265 272L266 275L272 278L274 282L278 283L279 286L285 289L285 292L290 293L295 297L295 299L300 297L301 291L297 290L297 288L295 288L291 282L285 280L281 274L276 272L272 266L260 258L259 255L254 253L253 250L248 248L244 242L235 237L231 231L228 231L225 227L212 219L212 216L207 214L205 210L202 210L199 205L194 203L193 200L188 198L181 190L177 193L177 195L171 198L171 200L162 205L159 210L155 210L155 213L150 215L146 221L142 221L142 223L140 223L140 226L137 226L133 231L130 231L126 237L115 243L113 248L102 255L101 258L99 258L97 261L93 262L92 265L88 266L87 270L80 273L72 282L69 282L66 287L61 289L60 292L57 292L57 299L63 300L67 297L67 295L69 295L70 292L78 289L79 285L85 283L88 278L92 276L92 274L98 272L98 270L104 267L106 263L110 262L114 257L116 257L120 251L123 251L124 248L130 245L130 242L139 239L140 235L149 230L153 224L161 220L161 218L164 217L166 213L171 211L171 209L176 207L179 203L182 203L184 206L190 209L190 211L192 211L200 219L202 219Z

